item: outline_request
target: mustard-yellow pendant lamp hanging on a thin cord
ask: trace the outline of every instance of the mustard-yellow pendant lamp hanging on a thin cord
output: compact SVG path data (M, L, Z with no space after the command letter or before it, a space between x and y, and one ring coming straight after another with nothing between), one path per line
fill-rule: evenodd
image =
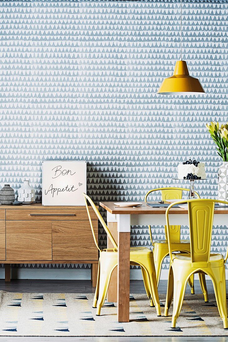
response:
M182 0L180 0L180 59L176 62L173 76L164 79L157 93L161 95L205 93L198 78L189 76L187 63L182 61Z

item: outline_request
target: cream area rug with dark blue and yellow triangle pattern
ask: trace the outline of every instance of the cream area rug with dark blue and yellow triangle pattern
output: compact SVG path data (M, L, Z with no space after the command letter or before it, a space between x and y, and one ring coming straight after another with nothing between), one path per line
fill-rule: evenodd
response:
M115 303L102 316L92 308L93 294L12 293L0 291L0 336L228 336L213 294L187 294L176 329L171 317L157 317L144 294L130 298L130 322L117 322ZM165 295L160 295L162 314ZM170 310L172 313L172 308Z

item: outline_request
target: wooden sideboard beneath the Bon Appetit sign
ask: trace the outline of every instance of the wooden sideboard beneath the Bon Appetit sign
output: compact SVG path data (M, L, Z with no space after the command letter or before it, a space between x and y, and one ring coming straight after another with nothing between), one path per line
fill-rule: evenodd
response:
M89 210L98 239L98 218ZM98 249L86 207L0 205L0 263L5 281L10 281L10 264L88 263L96 286Z

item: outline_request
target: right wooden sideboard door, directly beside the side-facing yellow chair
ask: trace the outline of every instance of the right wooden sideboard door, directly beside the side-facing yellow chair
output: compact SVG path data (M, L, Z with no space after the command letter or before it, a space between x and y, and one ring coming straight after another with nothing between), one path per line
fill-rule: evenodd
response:
M92 221L98 240L98 221ZM52 222L52 260L98 260L89 220Z

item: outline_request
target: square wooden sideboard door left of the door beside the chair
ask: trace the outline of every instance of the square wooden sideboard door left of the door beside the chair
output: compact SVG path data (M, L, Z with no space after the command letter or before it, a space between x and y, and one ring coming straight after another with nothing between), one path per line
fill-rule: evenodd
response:
M52 260L51 222L6 221L5 230L6 260Z

